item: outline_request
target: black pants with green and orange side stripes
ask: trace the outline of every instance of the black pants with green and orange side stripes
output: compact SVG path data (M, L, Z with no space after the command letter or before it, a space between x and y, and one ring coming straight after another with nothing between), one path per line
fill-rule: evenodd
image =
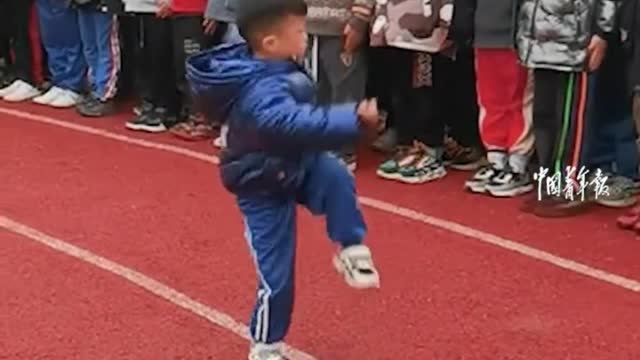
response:
M535 71L533 130L538 165L550 175L579 170L588 99L588 75Z

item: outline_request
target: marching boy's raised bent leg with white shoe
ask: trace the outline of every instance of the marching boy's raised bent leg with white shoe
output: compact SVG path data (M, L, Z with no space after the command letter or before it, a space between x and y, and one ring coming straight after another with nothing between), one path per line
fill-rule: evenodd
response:
M329 238L342 250L334 265L355 288L378 287L380 279L369 249L362 244L366 225L358 206L353 177L327 153L309 156L298 201L314 215L324 215Z

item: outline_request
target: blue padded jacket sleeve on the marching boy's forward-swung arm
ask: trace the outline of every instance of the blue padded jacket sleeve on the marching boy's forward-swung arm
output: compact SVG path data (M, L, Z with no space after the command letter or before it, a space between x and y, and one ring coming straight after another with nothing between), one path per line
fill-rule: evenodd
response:
M355 103L301 103L290 86L277 77L261 80L243 96L239 115L251 121L258 134L301 150L334 149L355 140L359 132Z

